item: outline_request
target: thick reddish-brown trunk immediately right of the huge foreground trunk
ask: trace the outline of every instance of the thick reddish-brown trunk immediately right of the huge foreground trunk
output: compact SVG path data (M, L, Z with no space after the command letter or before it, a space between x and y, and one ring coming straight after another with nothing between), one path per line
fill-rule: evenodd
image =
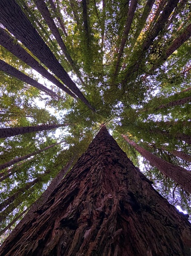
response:
M161 173L170 177L182 188L191 193L191 172L180 166L172 165L170 164L170 162L164 161L161 158L156 157L151 152L137 145L134 141L131 141L131 139L129 139L126 135L122 136L131 146L133 146L140 154L142 154L143 157L150 161L151 165L154 165L161 171Z

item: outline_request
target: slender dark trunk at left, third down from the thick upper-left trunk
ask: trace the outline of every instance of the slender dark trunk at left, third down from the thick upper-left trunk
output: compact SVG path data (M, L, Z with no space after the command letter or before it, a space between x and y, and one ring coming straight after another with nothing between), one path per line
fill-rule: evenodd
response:
M17 79L30 84L31 86L36 87L40 91L44 91L46 94L50 96L54 96L58 99L63 99L59 95L57 95L54 91L48 89L47 87L43 86L43 84L38 83L36 80L32 79L31 77L23 74L18 69L12 67L11 65L7 64L5 61L0 59L0 70L4 71L6 74L16 77Z

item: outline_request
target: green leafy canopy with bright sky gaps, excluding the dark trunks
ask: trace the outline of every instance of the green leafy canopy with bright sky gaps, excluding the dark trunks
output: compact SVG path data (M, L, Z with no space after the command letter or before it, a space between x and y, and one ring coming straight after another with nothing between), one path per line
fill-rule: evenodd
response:
M73 60L74 68L64 57L34 1L16 2L95 111L90 110L81 100L72 98L44 80L1 46L0 55L6 63L45 84L62 97L57 100L44 95L36 88L0 72L1 128L67 124L56 131L41 131L0 140L0 164L64 140L63 144L41 152L32 159L23 161L21 165L10 167L15 172L1 183L1 201L14 195L24 184L47 170L49 173L32 187L31 193L24 192L20 199L18 197L18 205L15 200L14 210L7 213L2 229L41 195L47 184L70 159L73 158L75 162L85 152L102 124L106 124L136 166L143 169L140 156L123 141L121 134L128 135L162 159L190 168L189 162L162 151L165 147L168 152L176 149L190 154L190 145L177 139L180 133L191 136L190 102L168 105L191 96L190 39L175 49L168 59L165 58L167 49L190 24L190 4L179 1L161 30L156 33L156 37L150 40L152 29L162 15L161 1L155 1L151 12L141 21L147 1L138 1L120 59L119 72L114 75L130 1L56 0L53 1L56 11L49 1L45 1ZM11 36L15 44L19 43L26 49L14 35ZM147 42L150 44L145 47ZM39 65L46 68L43 63ZM161 105L166 106L159 108ZM2 172L7 173L7 168ZM190 196L185 191L179 187L175 189L173 181L166 179L148 163L145 163L144 173L148 179L153 180L155 188L170 203L179 205L190 213Z

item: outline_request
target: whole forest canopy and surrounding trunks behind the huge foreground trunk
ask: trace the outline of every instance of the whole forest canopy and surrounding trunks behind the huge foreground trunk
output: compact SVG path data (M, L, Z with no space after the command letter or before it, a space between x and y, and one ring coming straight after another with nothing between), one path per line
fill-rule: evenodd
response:
M190 6L1 0L2 241L102 124L154 188L191 213L184 177L172 179L147 158L150 152L165 161L163 169L168 162L172 172L176 166L190 175ZM19 127L34 132L4 136Z

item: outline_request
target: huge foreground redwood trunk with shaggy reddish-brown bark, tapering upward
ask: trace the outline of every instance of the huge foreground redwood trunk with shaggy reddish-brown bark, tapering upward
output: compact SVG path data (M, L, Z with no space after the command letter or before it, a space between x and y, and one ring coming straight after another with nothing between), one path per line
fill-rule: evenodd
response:
M27 214L24 216L27 220ZM105 126L2 256L188 256L191 224L159 195Z

